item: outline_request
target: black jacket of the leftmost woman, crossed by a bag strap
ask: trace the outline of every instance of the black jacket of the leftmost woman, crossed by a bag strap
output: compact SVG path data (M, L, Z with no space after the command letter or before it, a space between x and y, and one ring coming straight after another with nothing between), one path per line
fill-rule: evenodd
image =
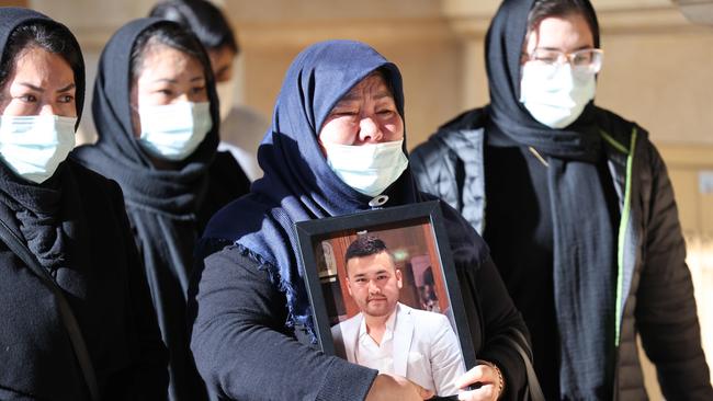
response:
M57 283L78 320L102 399L163 400L168 358L122 192L71 160L64 164L79 188L84 226L78 252L91 270L69 266ZM21 236L4 205L0 218ZM2 242L0 277L0 399L88 400L56 298Z

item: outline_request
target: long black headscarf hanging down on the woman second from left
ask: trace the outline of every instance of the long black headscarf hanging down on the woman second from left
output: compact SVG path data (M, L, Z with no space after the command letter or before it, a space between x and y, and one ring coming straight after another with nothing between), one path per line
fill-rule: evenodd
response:
M202 385L188 346L185 300L201 229L197 213L205 200L208 170L218 145L218 102L207 55L201 50L213 128L177 170L157 169L134 136L129 100L132 49L138 36L157 24L179 26L159 19L138 19L121 27L106 44L92 101L99 140L76 149L73 157L121 185L161 335L171 355L171 399L196 399L201 396L191 392Z

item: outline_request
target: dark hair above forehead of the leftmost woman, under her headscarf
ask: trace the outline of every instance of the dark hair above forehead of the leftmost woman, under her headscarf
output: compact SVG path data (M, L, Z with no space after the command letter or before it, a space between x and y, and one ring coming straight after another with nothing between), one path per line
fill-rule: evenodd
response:
M0 61L0 88L4 88L14 71L18 57L30 47L39 47L48 53L59 55L75 72L77 112L81 114L84 90L84 59L75 35L57 22L50 20L31 20L18 26L8 38L2 61Z

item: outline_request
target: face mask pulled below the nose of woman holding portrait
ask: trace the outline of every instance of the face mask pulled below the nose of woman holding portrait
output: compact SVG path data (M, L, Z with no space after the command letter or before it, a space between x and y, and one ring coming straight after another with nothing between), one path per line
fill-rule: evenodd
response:
M408 159L404 139L392 142L350 146L322 144L327 164L347 185L364 195L376 196L398 180Z

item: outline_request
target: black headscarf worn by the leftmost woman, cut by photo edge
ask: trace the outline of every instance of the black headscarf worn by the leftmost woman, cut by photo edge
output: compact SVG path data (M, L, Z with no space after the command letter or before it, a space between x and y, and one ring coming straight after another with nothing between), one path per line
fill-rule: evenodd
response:
M10 57L8 54L9 39L20 26L33 22L43 22L58 32L69 48L73 48L81 57L81 50L75 36L69 30L49 18L32 10L19 8L0 9L0 47L2 48L2 65ZM12 69L11 64L8 69ZM84 65L83 60L73 68L77 108L77 124L81 117L84 101ZM9 78L9 77L8 77ZM7 84L7 83L5 83ZM69 243L77 241L78 221L81 215L80 199L76 196L76 182L65 163L60 163L52 177L41 184L35 184L18 176L4 163L0 162L0 202L14 215L19 233L25 239L27 248L58 280L58 270L68 265ZM15 226L15 224L10 224ZM69 274L63 270L60 274Z

